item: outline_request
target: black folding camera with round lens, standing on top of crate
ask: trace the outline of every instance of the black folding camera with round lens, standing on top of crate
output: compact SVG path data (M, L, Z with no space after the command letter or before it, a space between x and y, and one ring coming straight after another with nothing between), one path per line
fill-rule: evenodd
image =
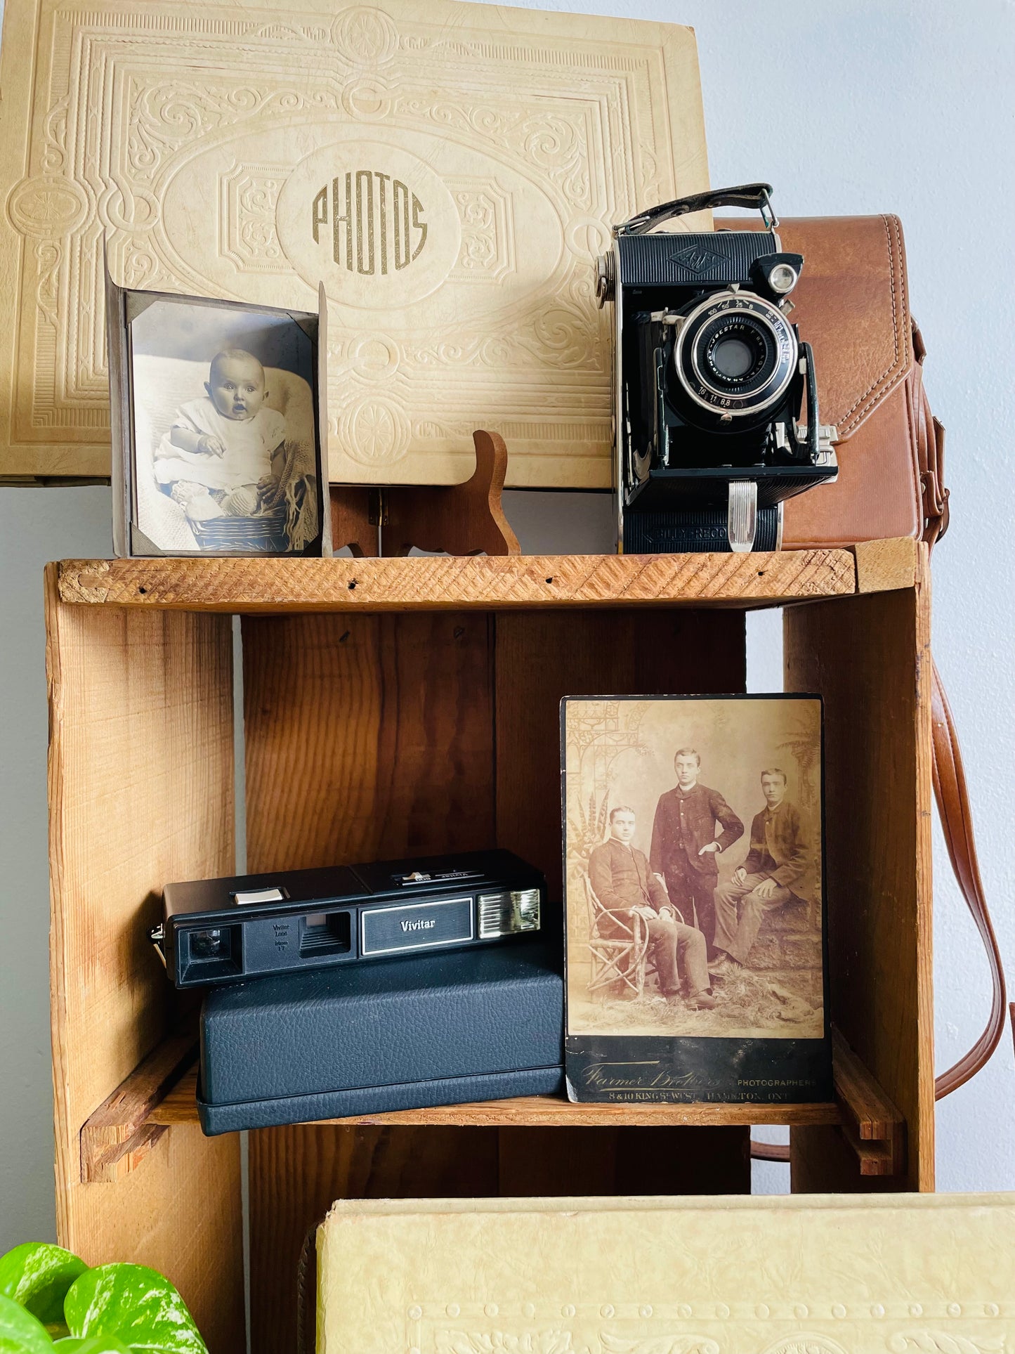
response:
M835 479L811 345L790 322L804 259L785 253L763 183L652 207L598 260L613 302L614 482L625 554L778 550L782 502ZM648 234L708 207L765 230Z

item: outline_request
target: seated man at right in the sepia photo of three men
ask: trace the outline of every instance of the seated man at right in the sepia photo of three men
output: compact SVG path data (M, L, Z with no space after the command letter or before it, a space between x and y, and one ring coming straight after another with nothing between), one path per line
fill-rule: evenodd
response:
M746 964L766 913L813 898L813 850L800 810L786 799L786 773L771 766L761 780L765 808L754 815L747 860L716 890L713 968Z

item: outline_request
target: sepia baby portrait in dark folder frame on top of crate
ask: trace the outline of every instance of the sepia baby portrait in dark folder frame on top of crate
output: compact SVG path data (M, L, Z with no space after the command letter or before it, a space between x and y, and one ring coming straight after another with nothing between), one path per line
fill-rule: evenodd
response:
M318 315L107 290L116 552L328 554Z

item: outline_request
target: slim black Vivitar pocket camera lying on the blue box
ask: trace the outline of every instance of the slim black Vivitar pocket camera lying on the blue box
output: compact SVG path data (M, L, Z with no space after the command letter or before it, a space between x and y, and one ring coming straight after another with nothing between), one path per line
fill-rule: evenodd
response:
M545 879L506 850L166 884L150 940L177 987L489 945L540 929Z

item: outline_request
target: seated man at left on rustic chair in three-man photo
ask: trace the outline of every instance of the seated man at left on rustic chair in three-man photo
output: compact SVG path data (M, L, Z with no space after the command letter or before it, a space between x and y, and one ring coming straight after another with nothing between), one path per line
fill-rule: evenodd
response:
M687 979L687 1005L693 1010L716 1005L709 990L705 937L694 926L677 921L662 881L650 871L644 852L631 845L635 811L618 806L610 812L610 839L589 856L589 881L602 906L617 915L614 934L623 937L625 923L637 913L648 929L659 986L669 1002L679 999L679 969ZM609 921L600 922L600 934L609 936Z

